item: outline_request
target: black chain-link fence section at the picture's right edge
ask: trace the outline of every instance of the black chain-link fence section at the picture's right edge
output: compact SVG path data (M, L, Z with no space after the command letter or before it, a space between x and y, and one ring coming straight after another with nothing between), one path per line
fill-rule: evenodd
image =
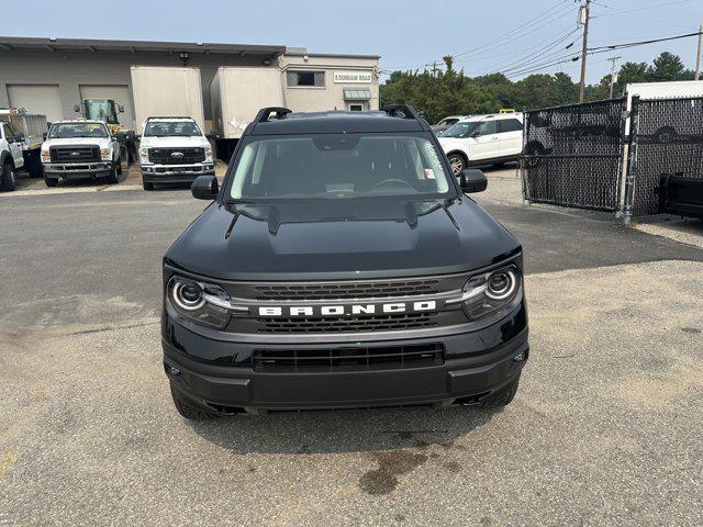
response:
M662 178L703 179L703 98L639 101L633 97L625 212L663 212Z

